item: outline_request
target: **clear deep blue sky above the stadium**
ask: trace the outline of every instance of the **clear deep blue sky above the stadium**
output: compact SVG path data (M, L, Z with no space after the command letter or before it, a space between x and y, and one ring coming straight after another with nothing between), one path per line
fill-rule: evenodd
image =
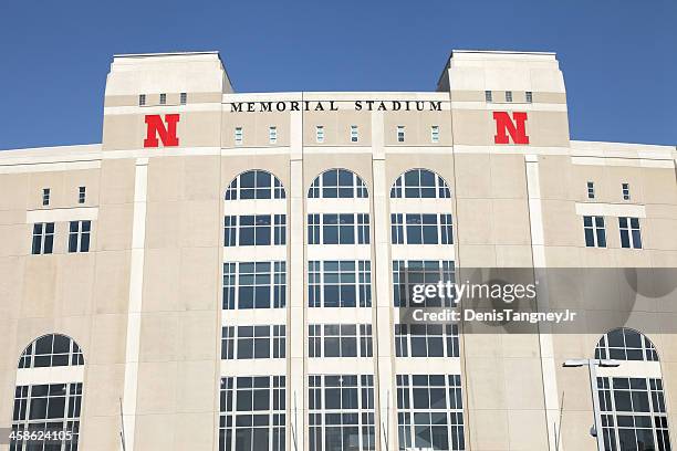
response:
M434 91L451 49L554 51L573 139L677 144L677 1L6 1L0 149L101 141L114 53L218 50L237 92ZM671 83L670 83L671 82Z

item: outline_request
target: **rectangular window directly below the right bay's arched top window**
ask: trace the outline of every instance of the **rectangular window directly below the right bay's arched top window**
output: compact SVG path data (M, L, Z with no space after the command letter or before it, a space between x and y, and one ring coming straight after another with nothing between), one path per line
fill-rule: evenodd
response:
M390 214L393 244L454 244L451 214Z

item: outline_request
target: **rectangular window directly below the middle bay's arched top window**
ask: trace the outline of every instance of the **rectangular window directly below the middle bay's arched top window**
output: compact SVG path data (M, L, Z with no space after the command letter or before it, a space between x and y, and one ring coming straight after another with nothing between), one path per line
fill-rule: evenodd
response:
M309 214L308 242L309 244L369 244L369 214Z

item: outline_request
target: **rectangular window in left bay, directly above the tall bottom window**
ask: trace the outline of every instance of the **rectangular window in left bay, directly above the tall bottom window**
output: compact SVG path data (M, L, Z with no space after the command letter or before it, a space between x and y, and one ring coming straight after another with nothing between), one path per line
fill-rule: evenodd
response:
M284 358L287 327L282 325L223 326L221 359Z

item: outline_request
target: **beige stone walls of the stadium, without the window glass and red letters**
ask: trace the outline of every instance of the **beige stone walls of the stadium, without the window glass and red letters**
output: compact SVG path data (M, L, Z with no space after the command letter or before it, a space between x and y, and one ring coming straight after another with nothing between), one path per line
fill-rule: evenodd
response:
M517 128L513 113L525 113L529 143L515 144L519 130L508 127L508 143L497 144L494 112ZM176 146L147 128L148 116L168 127L167 115L179 115ZM144 144L150 135L157 147ZM398 433L400 376L444 375L460 376L462 433L444 429L441 449L596 449L587 374L562 363L592 358L601 335L461 333L458 355L398 356L393 262L677 268L676 162L670 146L571 140L564 80L549 53L455 51L438 90L420 93L238 94L216 53L115 56L102 144L0 151L0 427L15 420L15 387L76 379L79 449L122 449L124 424L127 451L326 450L313 438L311 417L326 409L313 410L309 378L355 375L373 378L360 382L373 388L373 405L356 410L373 416L360 420L372 429L343 449L404 450L414 444ZM232 180L254 169L273 175L283 197L225 200ZM356 175L366 197L310 198L331 169ZM450 198L393 198L412 169L439 176ZM451 242L394 243L392 214L407 212L451 214ZM284 218L283 239L226 245L225 218L267 213ZM310 243L310 216L334 213L368 214L366 241ZM583 217L606 219L606 247L586 247ZM623 248L616 218L625 217L639 219L640 249ZM90 221L87 252L70 248L72 221ZM38 223L54 224L50 252L35 252ZM324 261L368 262L371 303L310 307L309 262ZM223 310L225 263L240 271L251 262L284 263L284 305ZM665 327L644 333L659 356L648 371L663 381L674 443L677 306L667 310ZM311 357L315 324L369 325L373 350ZM285 326L284 357L221 358L225 327L272 325ZM48 334L71 337L84 365L19 369L27 346ZM271 376L284 377L283 406L265 410L281 421L281 445L271 423L265 444L238 438L219 448L223 380ZM447 424L449 411L440 410Z

